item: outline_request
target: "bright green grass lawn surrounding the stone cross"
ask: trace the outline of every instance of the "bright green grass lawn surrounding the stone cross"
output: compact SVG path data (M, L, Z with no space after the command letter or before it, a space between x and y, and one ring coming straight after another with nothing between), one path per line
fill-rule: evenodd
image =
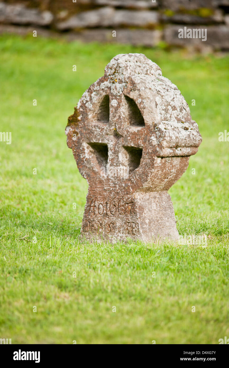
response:
M203 142L169 194L179 233L207 234L206 248L78 241L87 183L66 144L67 117L112 57L129 52L161 67L199 125ZM229 56L1 36L0 85L0 131L12 132L11 144L0 142L0 338L218 344L229 337L229 142L218 140L229 131Z

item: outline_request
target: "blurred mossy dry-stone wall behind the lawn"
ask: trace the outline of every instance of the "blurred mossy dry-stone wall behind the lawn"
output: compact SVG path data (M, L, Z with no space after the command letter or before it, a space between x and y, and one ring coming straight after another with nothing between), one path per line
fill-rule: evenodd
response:
M195 33L193 29L201 31ZM26 34L33 30L37 35L84 42L228 51L229 0L0 2L0 33Z

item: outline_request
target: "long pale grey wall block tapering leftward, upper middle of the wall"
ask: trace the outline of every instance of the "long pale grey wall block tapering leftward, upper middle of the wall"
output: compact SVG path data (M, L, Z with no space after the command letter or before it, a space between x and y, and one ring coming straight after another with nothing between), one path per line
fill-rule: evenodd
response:
M150 26L158 22L158 12L153 10L119 10L102 7L73 15L69 19L56 24L57 29L76 29L94 27Z

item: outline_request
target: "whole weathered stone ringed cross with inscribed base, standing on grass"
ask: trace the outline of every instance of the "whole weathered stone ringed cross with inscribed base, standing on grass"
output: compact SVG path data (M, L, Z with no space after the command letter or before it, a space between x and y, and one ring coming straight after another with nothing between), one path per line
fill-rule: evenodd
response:
M178 88L143 54L120 54L68 118L65 133L89 184L81 238L178 239L169 188L201 144Z

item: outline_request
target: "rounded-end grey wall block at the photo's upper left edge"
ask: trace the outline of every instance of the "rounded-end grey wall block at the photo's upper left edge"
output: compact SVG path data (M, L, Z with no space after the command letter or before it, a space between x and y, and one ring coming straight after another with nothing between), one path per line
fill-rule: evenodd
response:
M50 25L53 14L50 11L26 8L23 4L0 3L0 22L11 24Z

